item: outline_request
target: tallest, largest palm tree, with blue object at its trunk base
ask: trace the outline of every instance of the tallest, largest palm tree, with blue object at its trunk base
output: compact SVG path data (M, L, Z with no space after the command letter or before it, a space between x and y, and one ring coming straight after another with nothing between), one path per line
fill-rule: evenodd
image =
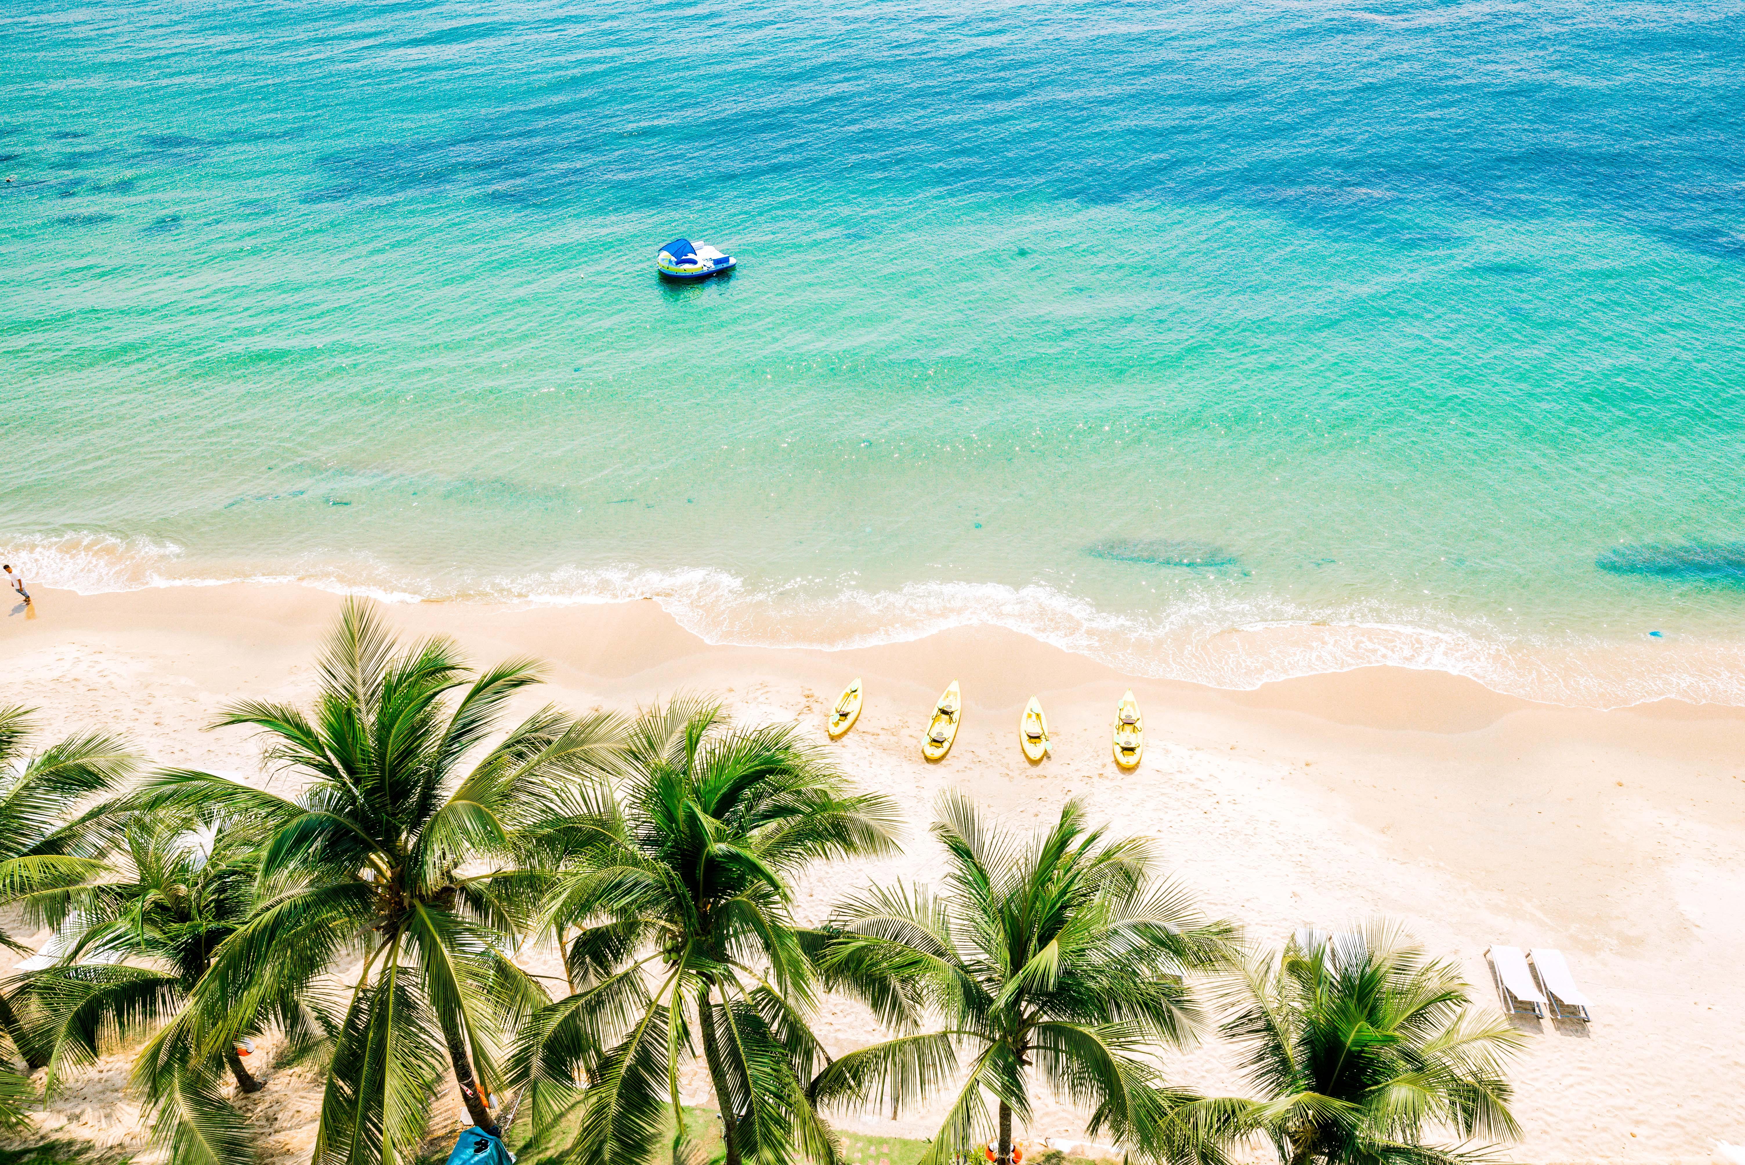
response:
M265 837L257 910L134 1067L154 1104L199 1116L211 1085L190 1066L274 1008L279 1025L304 1008L332 1039L318 1163L415 1158L445 1071L473 1123L496 1130L494 1038L544 1003L508 957L534 886L515 834L551 778L611 745L600 719L544 708L487 748L504 703L536 682L525 659L475 675L447 640L400 651L372 607L347 602L307 715L244 701L218 720L260 729L269 759L307 781L295 797L192 771L148 781L148 811L248 816ZM347 985L333 1008L330 975ZM178 1128L188 1160L246 1149L234 1128Z

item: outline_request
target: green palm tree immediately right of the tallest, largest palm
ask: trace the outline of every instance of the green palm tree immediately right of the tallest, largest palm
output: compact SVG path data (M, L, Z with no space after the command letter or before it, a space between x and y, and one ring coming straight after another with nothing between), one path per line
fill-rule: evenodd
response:
M546 926L576 930L564 949L576 991L534 1017L513 1064L536 1128L555 1137L555 1118L579 1111L564 1160L649 1160L668 1106L677 1158L679 1067L696 1045L728 1165L839 1158L806 1097L824 1052L806 1025L790 879L820 858L888 851L893 820L792 727L733 729L695 699L630 726L618 790L578 787L544 835L569 862Z

